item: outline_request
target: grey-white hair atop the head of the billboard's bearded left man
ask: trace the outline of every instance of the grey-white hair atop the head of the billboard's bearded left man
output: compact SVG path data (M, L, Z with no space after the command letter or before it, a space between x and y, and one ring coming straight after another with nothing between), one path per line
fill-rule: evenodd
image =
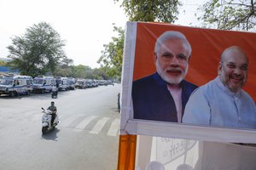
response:
M187 40L187 38L183 35L183 33L181 33L180 31L165 31L163 34L161 34L160 37L158 37L155 42L154 53L159 52L162 43L169 39L183 40L183 42L185 42L189 48L189 56L191 55L192 49L190 43Z

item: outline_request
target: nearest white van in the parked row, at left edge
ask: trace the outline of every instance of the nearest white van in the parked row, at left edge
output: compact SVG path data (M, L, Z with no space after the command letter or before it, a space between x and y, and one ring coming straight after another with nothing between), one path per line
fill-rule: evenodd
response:
M0 77L0 95L9 94L9 96L17 96L19 94L31 94L32 92L32 77L15 76L15 77Z

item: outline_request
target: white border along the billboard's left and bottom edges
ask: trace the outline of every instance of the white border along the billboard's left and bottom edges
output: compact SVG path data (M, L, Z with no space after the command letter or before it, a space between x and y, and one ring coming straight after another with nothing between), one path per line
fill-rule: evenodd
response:
M137 39L137 22L127 22L122 69L120 135L138 134L178 139L256 144L256 130L209 127L133 119L131 101L132 77Z

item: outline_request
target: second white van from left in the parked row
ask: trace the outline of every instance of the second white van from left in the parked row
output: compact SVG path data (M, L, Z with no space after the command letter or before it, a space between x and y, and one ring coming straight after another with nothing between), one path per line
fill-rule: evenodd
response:
M38 76L33 80L33 92L51 92L52 88L56 86L54 77Z

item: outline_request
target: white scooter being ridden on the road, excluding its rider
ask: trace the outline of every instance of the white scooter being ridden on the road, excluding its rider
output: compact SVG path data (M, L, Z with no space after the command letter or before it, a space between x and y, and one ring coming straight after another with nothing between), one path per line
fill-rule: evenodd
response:
M57 115L57 113L55 114L55 120L51 125L52 111L45 111L43 107L41 109L44 113L44 115L42 116L42 133L44 134L48 132L50 129L57 126L57 124L59 123L59 116Z

